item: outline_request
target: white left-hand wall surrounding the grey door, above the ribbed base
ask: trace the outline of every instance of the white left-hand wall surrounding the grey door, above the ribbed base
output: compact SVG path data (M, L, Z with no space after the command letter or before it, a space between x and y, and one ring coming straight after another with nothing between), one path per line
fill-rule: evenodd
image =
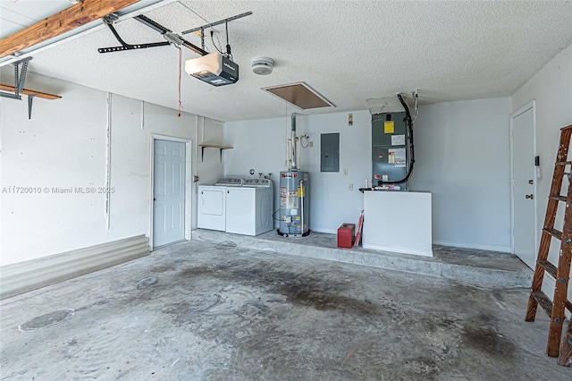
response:
M13 75L8 69L3 68L3 78ZM34 99L31 120L26 97L22 101L0 98L0 190L38 187L50 193L0 193L1 264L138 234L148 236L151 134L190 139L196 151L197 141L203 139L202 129L197 128L205 123L203 118L182 113L179 119L176 110L150 104L144 105L142 118L139 100L112 96L111 186L115 191L108 230L105 194L51 192L54 187L105 186L106 93L33 72L27 76L26 87L63 98ZM207 121L205 126L208 133L222 139L223 123ZM218 160L192 160L192 165L192 173L199 176L223 174Z

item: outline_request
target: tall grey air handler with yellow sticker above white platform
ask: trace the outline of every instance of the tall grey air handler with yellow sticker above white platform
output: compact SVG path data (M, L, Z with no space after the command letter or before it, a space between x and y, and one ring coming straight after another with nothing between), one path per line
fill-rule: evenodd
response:
M372 185L384 190L407 190L400 181L408 173L408 127L405 112L372 115Z

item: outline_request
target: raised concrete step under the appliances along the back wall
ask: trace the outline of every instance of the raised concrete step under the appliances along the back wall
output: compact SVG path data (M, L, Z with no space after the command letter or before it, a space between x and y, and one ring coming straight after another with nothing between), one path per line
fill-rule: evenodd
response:
M275 251L300 257L330 259L355 265L386 268L416 274L444 276L468 282L530 287L533 271L512 254L433 245L433 258L362 247L338 249L335 234L310 233L307 237L285 238L275 231L256 237L197 229L193 240L225 242L251 250ZM412 237L414 239L414 237Z

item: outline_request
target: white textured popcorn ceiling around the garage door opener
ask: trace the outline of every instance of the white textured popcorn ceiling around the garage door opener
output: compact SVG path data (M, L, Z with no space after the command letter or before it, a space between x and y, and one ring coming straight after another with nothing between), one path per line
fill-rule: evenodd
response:
M423 103L507 97L572 43L572 1L193 0L144 14L181 33L248 11L229 23L240 80L214 88L183 72L184 111L221 121L282 116L284 102L261 88L299 81L336 106L328 112L367 109L367 99L414 89ZM162 40L132 19L116 29L128 43ZM224 46L223 26L215 29ZM34 55L29 71L177 108L179 51L97 53L117 45L109 30L85 33ZM206 50L214 51L210 41ZM197 56L184 48L182 55ZM273 58L272 74L251 71L257 55Z

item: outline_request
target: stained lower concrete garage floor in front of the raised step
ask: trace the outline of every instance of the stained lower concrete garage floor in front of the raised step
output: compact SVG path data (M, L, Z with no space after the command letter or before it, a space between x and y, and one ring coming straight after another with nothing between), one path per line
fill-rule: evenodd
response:
M523 288L189 241L0 304L1 378L569 380Z

